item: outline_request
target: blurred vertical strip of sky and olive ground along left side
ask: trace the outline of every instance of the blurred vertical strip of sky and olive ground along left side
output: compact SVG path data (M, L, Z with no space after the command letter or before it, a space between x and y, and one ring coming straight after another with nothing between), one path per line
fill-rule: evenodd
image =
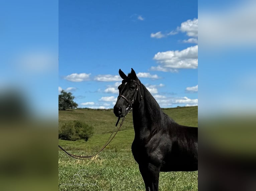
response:
M0 2L1 190L58 189L58 1Z

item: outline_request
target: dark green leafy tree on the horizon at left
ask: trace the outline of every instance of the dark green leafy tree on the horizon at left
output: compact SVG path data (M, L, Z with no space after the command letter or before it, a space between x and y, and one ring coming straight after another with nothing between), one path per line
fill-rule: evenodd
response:
M64 90L61 90L59 95L59 110L77 108L78 104L73 101L74 98L75 96L72 96L72 93L67 93Z

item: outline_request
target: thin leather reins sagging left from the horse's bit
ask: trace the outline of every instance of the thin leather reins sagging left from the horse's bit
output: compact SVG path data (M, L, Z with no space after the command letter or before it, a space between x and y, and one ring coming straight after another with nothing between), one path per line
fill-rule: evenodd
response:
M126 108L126 110L125 110L125 114L124 114L124 116L123 116L123 119L122 119L122 121L121 121L121 123L120 123L120 126L118 127L116 133L114 134L114 136L112 137L112 135L113 135L113 133L114 133L114 131L115 131L115 128L116 128L116 126L117 126L117 124L118 124L118 122L119 122L119 120L120 120L120 117L118 117L118 120L117 120L117 122L116 122L116 126L114 127L114 129L113 129L111 135L109 136L107 142L105 143L105 145L104 145L97 153L95 153L94 155L90 155L90 156L79 156L79 155L75 155L75 154L69 153L68 151L66 151L65 149L63 149L60 145L58 145L58 146L59 146L59 148L60 148L61 150L63 150L63 151L66 152L69 156L71 156L71 157L73 157L73 158L76 158L76 159L79 159L79 160L85 160L85 159L92 158L92 157L96 156L97 154L99 154L99 153L112 141L112 139L116 136L117 132L118 132L119 129L121 128L121 126L122 126L122 124L123 124L123 122L124 122L125 116L126 116L128 113L130 113L131 111L132 111L132 109L131 109L131 106L129 105L129 106ZM112 137L112 138L111 138L111 137Z

